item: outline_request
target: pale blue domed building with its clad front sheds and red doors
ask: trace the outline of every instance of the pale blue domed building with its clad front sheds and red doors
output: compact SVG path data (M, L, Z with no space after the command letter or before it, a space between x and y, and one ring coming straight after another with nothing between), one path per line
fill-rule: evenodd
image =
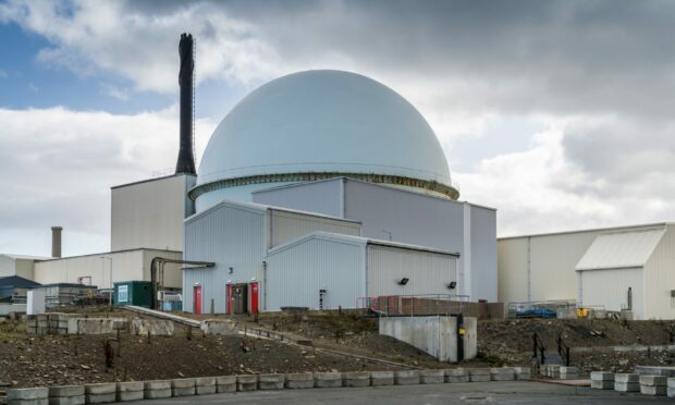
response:
M424 116L363 75L300 72L250 93L187 195L184 259L214 266L183 271L184 310L496 299L495 210L457 200Z

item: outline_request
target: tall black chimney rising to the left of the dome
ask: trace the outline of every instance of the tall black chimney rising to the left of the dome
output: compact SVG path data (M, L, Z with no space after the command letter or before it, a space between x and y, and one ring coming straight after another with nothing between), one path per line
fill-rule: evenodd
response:
M195 174L195 155L193 151L193 82L195 71L194 40L192 34L182 34L179 44L181 56L181 149L175 173Z

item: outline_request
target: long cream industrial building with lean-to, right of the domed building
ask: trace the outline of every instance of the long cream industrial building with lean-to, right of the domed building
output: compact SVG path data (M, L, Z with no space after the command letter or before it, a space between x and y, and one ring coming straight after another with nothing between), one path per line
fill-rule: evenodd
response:
M499 299L570 300L675 318L675 225L655 223L500 238Z

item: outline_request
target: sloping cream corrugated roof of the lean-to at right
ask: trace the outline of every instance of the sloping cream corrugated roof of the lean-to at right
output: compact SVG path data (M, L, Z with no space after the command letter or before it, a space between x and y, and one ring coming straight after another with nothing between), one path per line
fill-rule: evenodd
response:
M576 270L643 267L664 233L665 229L600 234Z

